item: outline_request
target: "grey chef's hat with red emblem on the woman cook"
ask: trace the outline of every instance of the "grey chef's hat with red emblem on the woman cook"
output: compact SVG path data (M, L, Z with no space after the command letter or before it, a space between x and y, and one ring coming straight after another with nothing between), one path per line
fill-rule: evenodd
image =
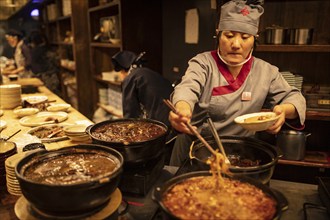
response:
M257 35L263 0L231 0L221 7L219 31Z

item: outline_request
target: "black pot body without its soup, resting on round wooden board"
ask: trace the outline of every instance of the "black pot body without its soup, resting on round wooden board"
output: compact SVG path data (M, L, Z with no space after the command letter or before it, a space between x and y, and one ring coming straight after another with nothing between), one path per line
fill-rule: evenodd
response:
M25 172L28 168L41 165L42 169L47 170L47 161L77 154L102 156L102 158L113 161L115 168L111 172L98 174L80 183L41 183L41 181L26 178ZM81 214L103 207L119 184L122 167L123 157L118 151L99 145L81 144L54 151L38 150L28 154L18 162L15 173L21 191L32 207L45 213L65 216Z

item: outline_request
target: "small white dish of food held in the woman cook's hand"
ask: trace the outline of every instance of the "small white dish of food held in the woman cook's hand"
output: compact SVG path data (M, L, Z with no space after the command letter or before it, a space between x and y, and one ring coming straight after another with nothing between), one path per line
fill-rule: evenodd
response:
M234 121L249 131L264 131L272 126L279 118L274 112L256 112L241 115Z

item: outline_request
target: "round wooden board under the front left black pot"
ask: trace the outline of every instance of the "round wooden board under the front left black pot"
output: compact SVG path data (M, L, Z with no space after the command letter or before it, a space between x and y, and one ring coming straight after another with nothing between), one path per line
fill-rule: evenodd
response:
M117 219L118 208L121 205L121 202L122 194L117 188L112 193L110 200L101 207L79 214L56 215L36 209L24 196L21 196L15 204L15 214L20 220Z

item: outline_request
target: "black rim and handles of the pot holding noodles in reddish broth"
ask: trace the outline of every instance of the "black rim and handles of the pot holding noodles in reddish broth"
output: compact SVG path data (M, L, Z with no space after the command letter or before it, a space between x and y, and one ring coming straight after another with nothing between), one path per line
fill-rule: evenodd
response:
M170 180L168 180L167 182L165 182L164 185L159 186L159 187L155 187L154 191L152 193L152 199L158 203L158 205L160 206L160 208L162 209L163 213L165 214L165 219L179 219L178 217L174 216L164 205L163 203L163 195L170 190L174 185L189 179L191 177L198 177L198 176L209 176L211 175L211 173L209 171L195 171L195 172L190 172L190 173L185 173L182 174L180 176L176 176ZM279 194L274 193L267 185L264 185L260 182L258 182L255 179L249 178L249 177L245 177L245 176L237 176L234 175L233 177L227 177L230 179L235 179L235 180L239 180L241 182L244 183L250 183L251 185L259 188L260 190L262 190L265 194L267 194L268 196L270 196L271 198L273 198L276 201L276 213L273 216L273 219L279 219L281 214L282 214L282 210L284 208L284 206L286 206L286 202L287 201L283 201L286 200L285 197L279 196ZM192 210L194 211L194 210Z

